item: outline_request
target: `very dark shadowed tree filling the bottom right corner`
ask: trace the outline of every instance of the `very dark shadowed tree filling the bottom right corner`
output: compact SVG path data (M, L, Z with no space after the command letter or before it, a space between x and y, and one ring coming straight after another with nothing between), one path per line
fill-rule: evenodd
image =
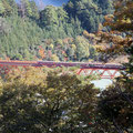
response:
M120 83L117 81L116 83ZM99 130L108 133L133 132L133 90L123 83L102 92L99 102Z

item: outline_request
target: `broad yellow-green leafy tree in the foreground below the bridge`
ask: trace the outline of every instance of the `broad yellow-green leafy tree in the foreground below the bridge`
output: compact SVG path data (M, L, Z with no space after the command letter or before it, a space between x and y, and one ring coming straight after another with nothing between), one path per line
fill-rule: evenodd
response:
M64 71L12 71L1 81L0 132L88 133L95 123L96 94L89 79Z

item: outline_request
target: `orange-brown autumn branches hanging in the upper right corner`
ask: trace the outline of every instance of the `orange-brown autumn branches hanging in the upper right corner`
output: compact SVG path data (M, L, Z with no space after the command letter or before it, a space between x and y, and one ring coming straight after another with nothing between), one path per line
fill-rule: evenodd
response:
M133 42L133 1L117 0L114 7L114 14L105 16L104 27L110 27L109 32L100 31L98 37L101 38L101 41L105 41L109 44L112 42L105 49L101 49L101 51L117 54L125 52L125 49Z

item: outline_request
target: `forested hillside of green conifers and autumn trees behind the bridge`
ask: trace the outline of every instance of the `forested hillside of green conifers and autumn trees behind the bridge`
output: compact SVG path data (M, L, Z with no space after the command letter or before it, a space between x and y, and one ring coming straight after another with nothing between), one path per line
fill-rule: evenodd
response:
M70 0L43 10L34 0L0 0L0 58L95 60L94 44L84 33L96 32L112 12L112 0Z

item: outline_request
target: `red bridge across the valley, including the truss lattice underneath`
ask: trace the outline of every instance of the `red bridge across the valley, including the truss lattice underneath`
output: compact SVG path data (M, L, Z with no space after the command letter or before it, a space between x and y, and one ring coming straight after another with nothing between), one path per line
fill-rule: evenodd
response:
M111 63L88 63L88 62L54 62L54 61L0 61L0 69L6 72L10 71L11 68L28 68L28 66L48 66L48 68L58 68L58 66L78 66L76 74L92 75L98 74L101 79L113 79L117 75L120 70L125 68L121 64L111 64Z

